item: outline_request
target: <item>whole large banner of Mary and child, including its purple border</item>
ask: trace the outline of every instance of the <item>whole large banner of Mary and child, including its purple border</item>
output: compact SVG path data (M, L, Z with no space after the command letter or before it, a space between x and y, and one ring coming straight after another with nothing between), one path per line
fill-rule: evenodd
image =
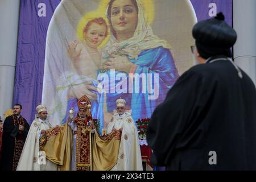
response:
M118 98L134 121L150 118L194 65L197 20L222 11L232 24L232 0L36 0L21 1L20 10L14 102L29 108L30 122L42 102L53 125L65 123L72 107L77 113L85 94L101 128Z

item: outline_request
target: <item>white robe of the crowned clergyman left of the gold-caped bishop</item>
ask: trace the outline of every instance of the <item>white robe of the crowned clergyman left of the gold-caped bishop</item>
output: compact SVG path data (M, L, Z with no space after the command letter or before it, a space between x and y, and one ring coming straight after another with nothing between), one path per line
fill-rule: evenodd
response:
M22 155L20 156L17 171L55 171L57 165L50 160L42 160L42 153L40 153L39 139L41 137L41 131L50 129L52 126L49 120L43 120L35 118L31 124L30 131ZM45 163L44 163L45 162Z

